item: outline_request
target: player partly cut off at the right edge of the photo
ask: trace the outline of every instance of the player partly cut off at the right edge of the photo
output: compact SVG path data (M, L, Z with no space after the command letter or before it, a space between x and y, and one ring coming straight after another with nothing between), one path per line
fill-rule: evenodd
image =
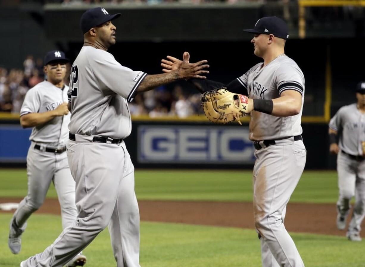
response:
M339 194L336 223L340 230L346 228L350 201L355 196L346 233L351 241L361 241L360 226L365 216L365 82L358 83L356 98L357 103L337 111L328 129L330 152L337 154Z

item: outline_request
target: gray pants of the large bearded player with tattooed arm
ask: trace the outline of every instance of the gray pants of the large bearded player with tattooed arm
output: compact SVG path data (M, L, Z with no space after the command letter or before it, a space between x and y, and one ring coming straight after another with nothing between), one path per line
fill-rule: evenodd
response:
M139 266L139 210L134 167L124 142L93 143L92 136L69 140L68 161L76 181L74 225L22 267L61 267L108 226L117 267Z

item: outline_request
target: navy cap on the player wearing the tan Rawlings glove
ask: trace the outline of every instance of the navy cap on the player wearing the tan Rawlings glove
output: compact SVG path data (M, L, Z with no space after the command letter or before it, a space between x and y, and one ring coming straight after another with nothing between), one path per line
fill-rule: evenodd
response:
M259 19L253 29L243 30L257 34L273 34L282 39L289 38L288 26L283 19L278 17L264 17Z

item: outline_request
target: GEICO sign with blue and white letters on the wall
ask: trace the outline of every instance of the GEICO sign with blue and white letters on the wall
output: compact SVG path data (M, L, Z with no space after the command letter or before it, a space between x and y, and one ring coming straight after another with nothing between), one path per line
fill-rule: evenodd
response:
M138 161L252 163L254 147L245 126L138 127Z

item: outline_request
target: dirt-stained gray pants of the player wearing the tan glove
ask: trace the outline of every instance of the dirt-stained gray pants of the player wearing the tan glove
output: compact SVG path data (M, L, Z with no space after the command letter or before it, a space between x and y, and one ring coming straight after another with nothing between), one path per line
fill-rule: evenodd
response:
M289 198L303 173L306 155L303 141L293 138L278 140L275 145L255 151L254 222L261 236L263 267L304 267L285 229L284 218Z

